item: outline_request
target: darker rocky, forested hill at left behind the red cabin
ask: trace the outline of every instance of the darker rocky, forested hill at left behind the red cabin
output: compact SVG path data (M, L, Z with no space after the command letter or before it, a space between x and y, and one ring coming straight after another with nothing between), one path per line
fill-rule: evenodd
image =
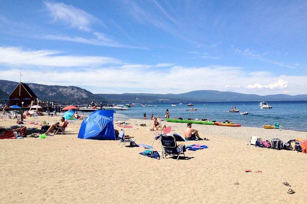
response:
M12 91L17 87L18 82L0 80L0 89L8 97ZM57 86L57 85L43 85L37 83L27 83L32 91L37 95L39 100L53 101L59 103L88 103L91 101L103 101L98 95L95 95L85 89L75 86ZM1 94L2 92L0 92Z

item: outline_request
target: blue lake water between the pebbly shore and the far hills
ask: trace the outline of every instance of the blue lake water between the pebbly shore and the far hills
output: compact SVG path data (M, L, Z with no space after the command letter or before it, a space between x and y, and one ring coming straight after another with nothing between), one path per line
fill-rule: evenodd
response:
M307 131L307 101L267 101L270 109L261 109L259 102L194 102L194 106L186 106L183 103L172 106L172 103L147 103L147 105L155 105L157 107L142 107L137 104L129 110L116 111L116 113L124 114L130 118L143 118L146 112L147 119L150 119L151 113L154 117L159 116L164 119L165 110L169 109L169 118L198 118L210 119L213 121L233 121L235 124L242 126L259 127L263 124L272 125L279 122L283 129ZM125 104L125 103L120 103ZM204 106L205 105L205 106ZM239 113L227 113L225 111L231 109L231 106L237 106L240 112L248 112L248 115L240 115ZM186 111L186 109L195 108L197 111ZM89 114L87 112L86 114Z

